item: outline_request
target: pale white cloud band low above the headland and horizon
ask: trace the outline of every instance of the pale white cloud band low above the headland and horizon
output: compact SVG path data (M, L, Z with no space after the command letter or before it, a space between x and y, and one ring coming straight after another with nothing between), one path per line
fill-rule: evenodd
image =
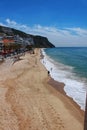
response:
M54 26L41 26L40 24L30 27L9 18L6 19L5 26L19 29L29 34L45 36L55 46L87 46L87 30L80 27L60 29Z

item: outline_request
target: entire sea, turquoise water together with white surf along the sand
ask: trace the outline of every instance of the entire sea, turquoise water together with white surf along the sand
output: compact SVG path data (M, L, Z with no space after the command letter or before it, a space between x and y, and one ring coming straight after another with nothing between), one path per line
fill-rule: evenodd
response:
M85 110L87 91L87 47L42 49L42 64L51 77L65 84L64 91Z

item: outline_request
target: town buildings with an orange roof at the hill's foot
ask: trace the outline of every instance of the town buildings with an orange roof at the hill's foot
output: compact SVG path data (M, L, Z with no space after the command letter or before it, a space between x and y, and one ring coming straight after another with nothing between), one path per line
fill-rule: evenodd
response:
M23 53L31 50L34 44L33 38L22 38L19 35L0 36L0 58L3 59L12 54Z

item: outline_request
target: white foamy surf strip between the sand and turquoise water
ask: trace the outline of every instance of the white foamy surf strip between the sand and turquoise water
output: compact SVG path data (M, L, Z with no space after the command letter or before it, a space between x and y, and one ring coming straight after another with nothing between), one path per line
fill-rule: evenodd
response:
M46 55L44 50L42 50L42 53L44 59L41 62L50 71L51 77L56 81L65 83L66 94L72 97L81 109L85 110L86 84L84 79L75 76L72 67L55 62Z

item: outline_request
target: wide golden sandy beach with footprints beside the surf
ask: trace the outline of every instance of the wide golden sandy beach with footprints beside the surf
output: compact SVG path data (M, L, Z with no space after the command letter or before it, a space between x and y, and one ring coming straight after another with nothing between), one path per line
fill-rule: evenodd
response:
M84 130L84 112L40 59L36 49L0 64L0 130Z

